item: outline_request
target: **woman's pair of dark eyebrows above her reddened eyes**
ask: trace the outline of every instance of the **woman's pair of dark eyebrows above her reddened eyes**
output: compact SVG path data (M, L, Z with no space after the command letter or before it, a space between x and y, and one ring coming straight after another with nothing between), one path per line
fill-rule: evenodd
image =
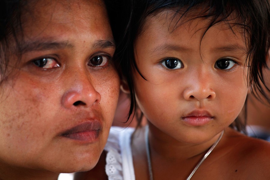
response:
M35 50L50 50L50 49L64 49L74 47L69 41L27 41L23 42L20 46L20 52L26 53ZM93 43L92 48L115 48L116 45L112 39L97 40Z

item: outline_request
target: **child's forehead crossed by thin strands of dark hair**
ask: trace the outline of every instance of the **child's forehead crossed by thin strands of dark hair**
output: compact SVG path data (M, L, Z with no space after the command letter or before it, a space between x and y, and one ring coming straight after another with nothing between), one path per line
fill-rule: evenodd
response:
M223 41L231 41L238 39L241 44L247 43L245 40L247 35L246 29L239 25L240 20L237 20L235 14L231 14L226 19L219 17L213 21L213 17L202 17L201 9L194 9L183 14L181 11L176 12L173 9L163 9L155 14L146 17L138 38L141 35L156 38L167 36L168 39L175 41L179 36L188 36L204 40L206 36L216 35L222 36ZM223 20L224 19L224 20ZM190 35L191 34L191 35ZM185 37L180 37L181 40L189 40ZM220 37L217 39L221 39ZM239 43L238 43L239 44ZM243 48L247 52L247 44L243 44Z

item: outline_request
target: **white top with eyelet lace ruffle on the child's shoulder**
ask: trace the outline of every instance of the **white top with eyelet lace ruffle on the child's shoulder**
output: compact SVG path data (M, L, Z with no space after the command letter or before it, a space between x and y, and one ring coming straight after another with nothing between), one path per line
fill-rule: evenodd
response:
M132 127L111 127L105 150L106 174L109 180L135 180L131 135L134 132Z

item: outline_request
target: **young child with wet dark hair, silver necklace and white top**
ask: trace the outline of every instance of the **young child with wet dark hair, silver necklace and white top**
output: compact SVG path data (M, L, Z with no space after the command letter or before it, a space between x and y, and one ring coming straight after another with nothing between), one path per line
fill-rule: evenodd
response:
M78 179L270 179L270 144L234 122L248 86L263 90L268 1L133 7L122 72L148 125L112 127L98 165Z

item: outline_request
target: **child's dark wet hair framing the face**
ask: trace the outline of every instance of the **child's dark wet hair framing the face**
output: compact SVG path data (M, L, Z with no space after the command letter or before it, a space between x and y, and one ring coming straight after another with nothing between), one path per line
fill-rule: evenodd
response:
M270 47L270 8L268 0L131 0L131 16L127 21L126 33L121 43L124 50L124 53L121 53L122 73L130 88L131 95L129 116L136 109L132 68L143 77L135 63L134 43L140 33L143 32L146 17L154 16L162 10L173 10L176 14L180 13L184 16L187 12L196 8L202 8L203 10L193 19L211 18L205 32L219 22L228 22L228 20L231 20L229 18L233 18L235 22L234 24L228 23L231 29L232 26L238 26L244 30L243 34L248 50L247 58L250 58L250 61L247 61L248 85L255 95L261 93L270 103L264 89L270 90L265 86L262 75L262 69L268 68L266 57ZM178 16L174 16L174 18L176 17ZM176 24L175 27L177 28L177 26L180 25ZM238 131L244 131L245 122L236 119L231 127Z

